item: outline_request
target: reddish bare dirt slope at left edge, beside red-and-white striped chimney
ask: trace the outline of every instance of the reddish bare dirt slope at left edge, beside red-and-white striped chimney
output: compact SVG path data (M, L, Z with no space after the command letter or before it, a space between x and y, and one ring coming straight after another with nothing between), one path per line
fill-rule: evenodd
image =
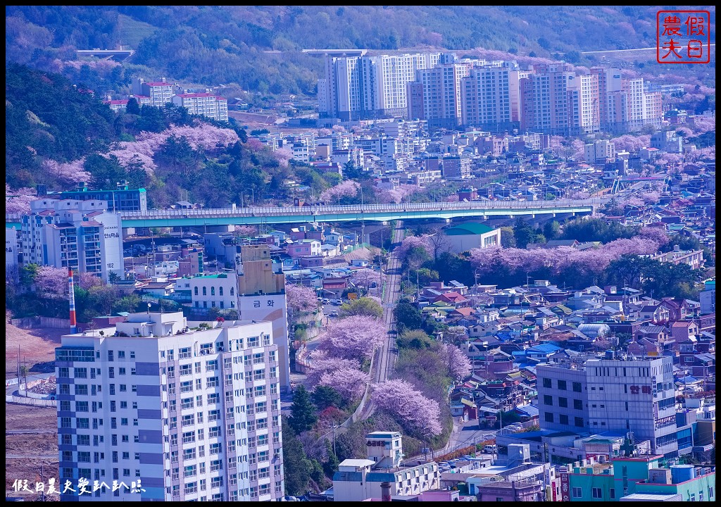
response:
M32 369L37 363L55 361L55 348L60 345L61 336L70 332L56 327L38 327L24 330L5 323L5 378L17 376L17 353Z

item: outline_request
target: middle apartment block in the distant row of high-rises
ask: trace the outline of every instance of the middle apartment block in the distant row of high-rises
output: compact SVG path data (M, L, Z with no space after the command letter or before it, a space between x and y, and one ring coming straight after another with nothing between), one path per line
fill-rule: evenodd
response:
M518 128L520 76L515 61L472 67L461 80L461 123L494 131Z

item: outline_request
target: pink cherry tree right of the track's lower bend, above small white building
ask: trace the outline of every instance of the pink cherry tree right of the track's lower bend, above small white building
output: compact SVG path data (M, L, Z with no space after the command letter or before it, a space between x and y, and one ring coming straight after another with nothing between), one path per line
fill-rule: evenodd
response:
M440 435L443 431L438 402L423 396L404 380L387 380L382 384L374 384L371 399L376 407L399 418L407 430L417 435Z

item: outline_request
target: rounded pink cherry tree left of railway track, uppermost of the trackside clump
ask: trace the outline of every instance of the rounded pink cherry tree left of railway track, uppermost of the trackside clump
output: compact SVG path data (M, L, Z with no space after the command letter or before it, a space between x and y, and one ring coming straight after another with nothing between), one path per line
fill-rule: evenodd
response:
M319 348L342 359L370 358L386 337L386 326L380 319L352 315L332 322L321 338Z

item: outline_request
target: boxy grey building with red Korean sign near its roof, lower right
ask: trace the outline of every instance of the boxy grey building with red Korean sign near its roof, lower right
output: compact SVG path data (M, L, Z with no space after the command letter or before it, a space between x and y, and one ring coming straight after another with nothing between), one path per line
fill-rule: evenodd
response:
M627 431L649 440L655 454L678 456L673 358L590 359L539 365L541 428Z

